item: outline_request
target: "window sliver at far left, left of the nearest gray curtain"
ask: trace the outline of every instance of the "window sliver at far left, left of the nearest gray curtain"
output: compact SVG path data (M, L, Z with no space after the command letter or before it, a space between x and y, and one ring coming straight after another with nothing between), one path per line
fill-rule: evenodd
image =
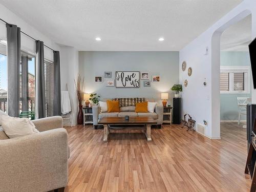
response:
M0 40L0 110L7 113L7 42Z

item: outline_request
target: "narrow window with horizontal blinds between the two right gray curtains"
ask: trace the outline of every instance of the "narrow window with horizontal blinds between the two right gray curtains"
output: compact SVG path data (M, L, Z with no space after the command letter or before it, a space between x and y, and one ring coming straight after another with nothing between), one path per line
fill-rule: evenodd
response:
M53 62L45 59L46 117L53 116Z

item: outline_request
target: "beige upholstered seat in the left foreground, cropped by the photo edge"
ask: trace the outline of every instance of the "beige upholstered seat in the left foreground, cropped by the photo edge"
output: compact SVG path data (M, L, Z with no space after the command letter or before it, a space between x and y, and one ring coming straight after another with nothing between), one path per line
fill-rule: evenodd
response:
M67 185L68 134L62 118L33 123L40 133L12 139L0 128L0 191L63 191Z

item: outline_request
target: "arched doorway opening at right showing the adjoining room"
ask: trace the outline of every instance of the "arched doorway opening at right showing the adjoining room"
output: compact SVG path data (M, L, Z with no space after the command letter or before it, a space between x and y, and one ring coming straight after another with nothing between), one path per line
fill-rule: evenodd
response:
M251 100L248 45L251 15L223 31L220 40L220 127L224 132L246 132L246 104ZM244 136L245 137L245 136Z

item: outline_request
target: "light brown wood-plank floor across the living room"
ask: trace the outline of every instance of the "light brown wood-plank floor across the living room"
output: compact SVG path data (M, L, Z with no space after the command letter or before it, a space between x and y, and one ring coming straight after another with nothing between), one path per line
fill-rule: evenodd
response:
M246 130L221 124L221 140L210 140L180 125L121 130L103 142L92 125L66 127L71 156L65 191L249 191L244 174ZM128 133L127 133L128 132Z

